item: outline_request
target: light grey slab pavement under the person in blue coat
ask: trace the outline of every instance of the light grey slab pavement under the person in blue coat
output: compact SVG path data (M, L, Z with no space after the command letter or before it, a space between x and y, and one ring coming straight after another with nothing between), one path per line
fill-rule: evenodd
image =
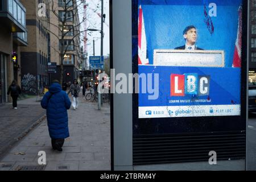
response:
M40 102L34 98L34 104L36 108ZM44 119L2 158L0 170L110 170L110 105L98 110L96 102L80 97L79 108L70 109L68 117L70 137L65 139L63 152L52 150ZM38 164L39 151L46 152L45 166Z

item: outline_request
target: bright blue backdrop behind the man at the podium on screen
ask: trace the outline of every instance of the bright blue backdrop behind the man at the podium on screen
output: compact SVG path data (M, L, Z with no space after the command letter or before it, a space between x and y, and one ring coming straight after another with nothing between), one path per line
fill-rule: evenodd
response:
M217 16L211 16L213 32L205 17L216 3ZM225 67L233 63L237 38L238 7L241 0L232 1L173 1L141 0L147 39L147 56L153 64L154 49L174 49L184 46L183 30L189 25L197 28L196 46L205 50L224 50ZM157 8L155 7L157 6Z

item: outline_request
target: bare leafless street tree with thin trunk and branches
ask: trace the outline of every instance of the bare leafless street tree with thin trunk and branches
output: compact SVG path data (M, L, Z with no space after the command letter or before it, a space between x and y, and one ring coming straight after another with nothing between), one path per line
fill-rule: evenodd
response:
M69 51L76 51L76 48L80 50L80 36L83 32L87 31L87 27L81 30L81 24L84 23L86 17L83 17L81 20L79 19L80 14L83 13L84 2L85 0L48 0L48 18L40 18L49 23L50 26L55 27L55 30L58 30L56 32L52 31L51 28L47 28L48 32L59 40L59 49L54 49L55 51L59 50L60 55L61 85L63 84L64 77L64 56ZM49 13L54 17L49 17ZM59 23L53 23L52 18L58 19ZM67 35L69 36L67 37ZM70 47L73 47L73 49L71 50ZM81 57L80 53L80 51L77 51L76 55Z

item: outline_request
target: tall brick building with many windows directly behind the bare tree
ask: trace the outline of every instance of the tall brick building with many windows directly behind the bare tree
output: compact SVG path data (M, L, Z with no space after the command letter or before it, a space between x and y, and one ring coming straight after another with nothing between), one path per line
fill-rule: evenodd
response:
M63 53L63 82L80 80L80 20L76 1L54 0L54 12L50 8L51 56L57 64L57 72L51 74L52 80L60 80L61 53ZM61 48L64 48L61 51Z

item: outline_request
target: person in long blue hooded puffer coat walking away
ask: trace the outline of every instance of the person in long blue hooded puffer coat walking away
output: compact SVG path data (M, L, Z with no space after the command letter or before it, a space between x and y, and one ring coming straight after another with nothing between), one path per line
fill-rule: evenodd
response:
M62 90L58 80L54 80L42 101L41 106L46 109L49 136L52 139L53 150L62 151L65 138L69 137L68 112L71 101Z

